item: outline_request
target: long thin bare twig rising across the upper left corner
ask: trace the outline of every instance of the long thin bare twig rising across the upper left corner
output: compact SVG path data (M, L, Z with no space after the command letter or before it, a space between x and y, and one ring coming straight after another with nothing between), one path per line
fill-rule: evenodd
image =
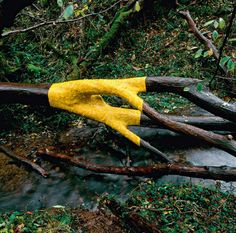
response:
M111 10L112 8L114 8L117 4L119 4L120 2L122 2L122 0L119 0L118 2L114 3L113 5L111 5L110 7L106 8L105 10L99 11L97 13L93 12L84 16L81 16L79 18L75 18L75 19L68 19L68 20L50 20L50 21L44 21L42 23L30 26L28 28L22 28L22 29L17 29L17 30L13 30L13 31L8 31L8 32L4 32L2 33L2 37L6 37L12 34L17 34L17 33L23 33L23 32L28 32L28 31L32 31L34 29L37 29L39 27L44 27L44 26L50 26L50 25L57 25L57 24L64 24L64 23L73 23L73 22L78 22L82 19L91 17L91 16L96 16L96 15L100 15L103 14L109 10Z

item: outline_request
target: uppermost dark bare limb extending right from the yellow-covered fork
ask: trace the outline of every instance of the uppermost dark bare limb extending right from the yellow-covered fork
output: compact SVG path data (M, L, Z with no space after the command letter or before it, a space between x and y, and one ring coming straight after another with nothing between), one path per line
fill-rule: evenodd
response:
M198 85L201 85L201 90L198 90ZM227 103L212 94L203 81L199 79L147 77L146 86L148 92L176 93L216 116L220 116L233 123L236 122L236 105Z

